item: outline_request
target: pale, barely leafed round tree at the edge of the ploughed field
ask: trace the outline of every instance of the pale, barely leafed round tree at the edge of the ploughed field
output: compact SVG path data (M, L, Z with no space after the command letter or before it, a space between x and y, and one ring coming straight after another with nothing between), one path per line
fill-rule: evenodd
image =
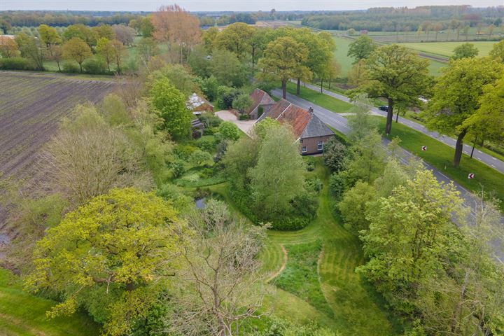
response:
M80 106L76 114L73 122L64 120L41 153L50 188L79 205L114 187L145 186L139 148L106 125L94 107Z

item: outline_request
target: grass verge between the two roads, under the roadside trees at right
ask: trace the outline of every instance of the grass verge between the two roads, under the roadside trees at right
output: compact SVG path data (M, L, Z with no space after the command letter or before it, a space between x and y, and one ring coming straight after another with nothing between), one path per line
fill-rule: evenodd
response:
M385 128L385 118L375 117L379 120L379 130ZM461 165L453 167L454 148L442 144L440 141L426 136L405 125L393 123L389 139L399 137L400 146L414 155L433 165L440 172L456 181L464 188L476 193L483 187L487 193L495 193L496 197L504 201L504 174L500 174L477 159L470 159L463 154ZM427 146L427 151L422 151L421 146ZM475 179L468 179L468 174L474 173ZM500 204L504 210L504 202Z

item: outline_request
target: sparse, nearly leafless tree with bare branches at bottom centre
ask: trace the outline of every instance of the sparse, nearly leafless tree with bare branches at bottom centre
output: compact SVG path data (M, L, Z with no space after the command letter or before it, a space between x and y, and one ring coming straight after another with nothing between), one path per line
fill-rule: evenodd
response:
M190 218L194 235L182 254L179 309L167 316L182 335L239 334L241 321L258 318L262 276L258 253L265 228L237 223L220 201L210 200L201 217Z

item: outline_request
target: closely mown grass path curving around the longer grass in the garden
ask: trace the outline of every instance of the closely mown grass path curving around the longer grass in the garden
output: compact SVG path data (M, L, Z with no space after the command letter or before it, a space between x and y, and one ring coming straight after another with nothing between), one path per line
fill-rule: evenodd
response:
M265 262L266 272L269 275L276 274L284 262L282 245L289 251L289 246L321 241L323 253L318 260L318 276L333 317L325 314L323 309L314 309L302 298L280 289L267 297L267 304L274 309L274 314L293 319L304 315L300 321L317 321L338 330L341 335L395 335L398 327L389 320L379 296L355 272L356 267L364 262L363 253L358 239L332 215L328 195L329 172L323 167L321 158L316 161L315 171L309 174L316 174L324 185L315 220L307 228L295 232L270 231L261 258ZM286 269L288 267L289 263ZM288 269L286 272L289 272ZM275 279L270 281L274 282ZM314 283L309 286L313 287ZM286 297L289 299L286 300Z

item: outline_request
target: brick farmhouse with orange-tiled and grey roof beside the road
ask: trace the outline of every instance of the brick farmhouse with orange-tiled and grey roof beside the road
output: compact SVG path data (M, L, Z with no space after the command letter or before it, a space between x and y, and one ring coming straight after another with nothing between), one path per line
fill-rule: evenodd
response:
M256 123L265 118L276 119L280 123L290 125L300 143L302 155L322 153L324 144L335 135L327 125L322 123L322 120L315 116L311 107L307 111L285 99L272 105Z

